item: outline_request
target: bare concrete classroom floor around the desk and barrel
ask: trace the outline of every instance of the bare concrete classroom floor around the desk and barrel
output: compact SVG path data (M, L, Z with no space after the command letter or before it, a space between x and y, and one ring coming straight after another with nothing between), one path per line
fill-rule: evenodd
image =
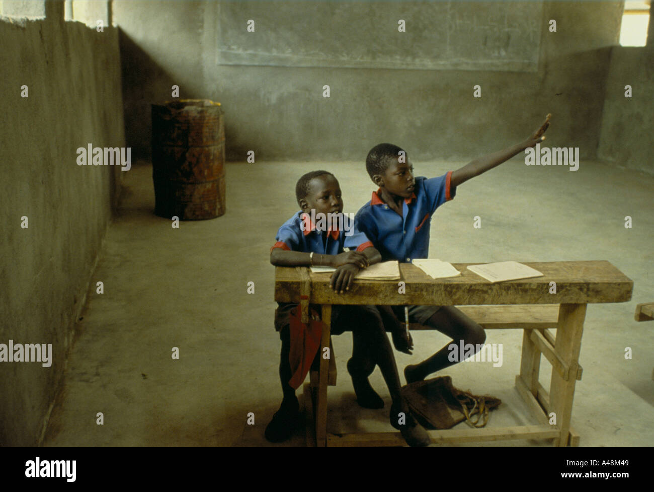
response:
M414 164L417 175L434 176L464 163ZM45 446L270 446L263 434L281 389L268 251L297 209L296 180L313 169L339 178L345 212L370 200L374 186L362 162L228 164L226 215L173 229L152 213L151 167L141 163L126 173ZM636 304L654 301L652 190L654 177L598 162L569 171L527 167L517 157L460 186L432 222L432 258L609 260L634 281L631 302L587 311L572 417L581 446L651 446L654 439L654 322L634 321ZM473 228L475 215L481 229ZM96 281L103 281L103 294L95 293ZM247 294L249 281L254 294ZM536 423L513 387L521 337L519 330L489 332L487 343L504 344L499 368L467 362L443 372L457 387L502 399L490 427ZM414 355L396 354L400 370L447 342L438 332L415 334ZM179 347L179 360L171 358L172 347ZM345 368L351 336L334 337L334 351L339 379L329 391L330 431L392 431L379 370L372 383L385 409L359 408ZM549 368L543 357L545 387ZM104 425L96 425L97 412ZM249 412L254 426L246 425ZM298 428L283 446L302 445Z

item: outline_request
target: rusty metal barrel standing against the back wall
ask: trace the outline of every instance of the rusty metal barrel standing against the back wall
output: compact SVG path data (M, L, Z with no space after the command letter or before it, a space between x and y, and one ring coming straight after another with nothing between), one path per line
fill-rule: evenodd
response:
M220 103L152 105L154 213L213 219L225 213L225 128Z

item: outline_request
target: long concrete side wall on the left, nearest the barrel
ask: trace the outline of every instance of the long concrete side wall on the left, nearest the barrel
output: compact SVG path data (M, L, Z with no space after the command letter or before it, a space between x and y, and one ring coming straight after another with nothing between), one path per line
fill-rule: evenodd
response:
M0 446L41 438L122 172L76 164L88 143L125 145L118 33L64 23L56 7L0 20L0 343L52 343L48 368L0 362Z

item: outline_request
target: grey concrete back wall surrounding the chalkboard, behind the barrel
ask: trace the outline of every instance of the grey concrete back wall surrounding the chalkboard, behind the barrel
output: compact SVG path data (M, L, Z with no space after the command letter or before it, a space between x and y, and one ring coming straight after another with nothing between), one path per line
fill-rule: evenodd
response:
M298 3L298 11L309 4ZM121 29L126 138L139 155L150 154L150 104L170 99L177 84L181 97L222 103L230 160L245 160L250 149L260 159L363 160L382 141L401 145L413 158L472 159L524 139L547 113L553 113L551 146L596 156L622 2L545 2L536 72L220 65L222 5L112 3ZM248 19L249 3L237 5ZM478 3L479 18L495 8ZM557 21L556 33L548 30L550 19ZM301 16L294 22L301 25ZM322 97L324 84L329 99ZM473 97L475 84L480 99Z

